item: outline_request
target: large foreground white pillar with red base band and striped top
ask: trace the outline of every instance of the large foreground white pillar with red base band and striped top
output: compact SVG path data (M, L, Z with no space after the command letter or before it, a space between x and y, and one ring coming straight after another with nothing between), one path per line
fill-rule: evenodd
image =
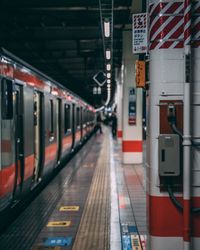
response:
M200 249L200 217L190 213L190 195L193 207L200 207L200 152L192 148L192 161L184 173L183 188L192 175L191 190L176 192L174 195L184 212L179 211L161 186L158 162L158 136L161 133L161 102L184 101L185 52L192 35L192 125L193 140L200 143L200 1L192 1L191 18L184 10L184 0L149 0L150 16L150 91L149 91L149 128L147 133L147 182L149 214L149 249ZM189 2L188 2L189 3ZM187 1L186 1L187 4ZM185 22L185 23L184 23ZM184 46L186 45L186 46ZM186 118L186 117L185 117ZM185 122L184 122L185 125ZM185 129L185 128L184 128ZM182 167L182 166L181 166ZM185 171L185 168L184 170ZM190 232L190 228L192 228ZM190 245L191 242L191 245Z

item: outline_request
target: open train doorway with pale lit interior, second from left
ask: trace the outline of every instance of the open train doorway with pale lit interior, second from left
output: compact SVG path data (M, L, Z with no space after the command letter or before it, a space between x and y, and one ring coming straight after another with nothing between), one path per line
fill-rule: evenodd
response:
M43 143L42 143L42 128L43 128L43 101L42 93L34 92L34 183L41 180L42 175L42 160L43 160Z

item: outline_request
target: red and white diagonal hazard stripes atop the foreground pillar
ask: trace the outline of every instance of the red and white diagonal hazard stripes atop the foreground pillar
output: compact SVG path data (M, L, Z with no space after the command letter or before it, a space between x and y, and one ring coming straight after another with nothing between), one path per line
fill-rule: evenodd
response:
M193 2L192 19L190 13L189 1L185 5L185 18L183 2L150 4L150 50L183 48L184 40L188 44L191 38L193 47L200 46L200 1Z

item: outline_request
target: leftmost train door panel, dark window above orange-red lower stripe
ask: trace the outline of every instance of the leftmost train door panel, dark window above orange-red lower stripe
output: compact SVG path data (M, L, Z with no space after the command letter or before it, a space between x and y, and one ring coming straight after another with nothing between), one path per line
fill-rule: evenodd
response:
M0 106L0 211L7 207L13 199L13 190L16 186L15 168L15 137L14 137L14 110L13 110L13 82L1 79L1 106Z

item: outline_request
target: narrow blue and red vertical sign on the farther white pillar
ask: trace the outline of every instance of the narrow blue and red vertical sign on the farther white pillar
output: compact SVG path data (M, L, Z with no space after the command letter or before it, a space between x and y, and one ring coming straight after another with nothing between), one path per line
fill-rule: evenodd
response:
M129 88L128 124L136 125L136 93L135 88Z

